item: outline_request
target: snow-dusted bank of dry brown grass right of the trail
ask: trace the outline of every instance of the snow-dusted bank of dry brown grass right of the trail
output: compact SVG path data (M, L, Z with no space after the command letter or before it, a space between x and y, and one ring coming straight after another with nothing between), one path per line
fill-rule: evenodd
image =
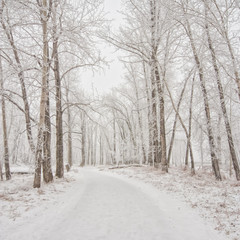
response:
M189 171L170 168L168 174L152 167L128 167L108 170L117 174L137 178L180 197L200 215L223 232L226 239L240 239L240 182L216 181L207 171L198 171L191 176Z

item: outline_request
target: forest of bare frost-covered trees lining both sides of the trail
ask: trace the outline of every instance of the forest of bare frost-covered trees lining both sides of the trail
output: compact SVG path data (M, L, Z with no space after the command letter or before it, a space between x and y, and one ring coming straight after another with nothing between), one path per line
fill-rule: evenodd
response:
M119 29L103 0L0 2L2 180L14 164L33 167L35 188L73 164L240 180L237 0L124 0ZM103 43L124 84L99 95L81 73L106 67Z

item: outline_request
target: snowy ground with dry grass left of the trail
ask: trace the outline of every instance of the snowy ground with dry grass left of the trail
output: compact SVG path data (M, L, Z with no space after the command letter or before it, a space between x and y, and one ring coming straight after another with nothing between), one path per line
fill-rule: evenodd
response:
M13 174L11 180L0 181L0 225L27 217L28 212L32 214L39 207L47 209L49 204L56 204L58 195L74 180L73 173L66 173L63 179L43 183L40 189L33 188L33 174Z

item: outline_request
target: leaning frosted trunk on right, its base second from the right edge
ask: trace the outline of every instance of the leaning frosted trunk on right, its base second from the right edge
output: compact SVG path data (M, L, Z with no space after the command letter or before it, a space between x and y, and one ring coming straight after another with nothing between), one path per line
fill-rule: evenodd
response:
M207 94L207 89L205 85L205 79L203 75L203 67L201 65L201 62L198 57L197 49L192 37L192 31L189 22L187 21L186 18L186 31L187 35L190 40L193 56L198 68L198 74L199 74L199 80L200 80L200 85L201 85L201 90L203 94L203 100L204 100L204 110L205 110L205 115L206 115L206 120L207 120L207 133L208 133L208 141L209 141L209 148L210 148L210 153L211 153L211 161L212 161L212 168L215 174L215 177L217 180L222 180L221 173L220 173L220 168L219 168L219 161L216 155L216 145L215 145L215 139L213 135L213 130L212 130L212 124L211 124L211 114L210 114L210 107L209 107L209 100L208 100L208 94Z

